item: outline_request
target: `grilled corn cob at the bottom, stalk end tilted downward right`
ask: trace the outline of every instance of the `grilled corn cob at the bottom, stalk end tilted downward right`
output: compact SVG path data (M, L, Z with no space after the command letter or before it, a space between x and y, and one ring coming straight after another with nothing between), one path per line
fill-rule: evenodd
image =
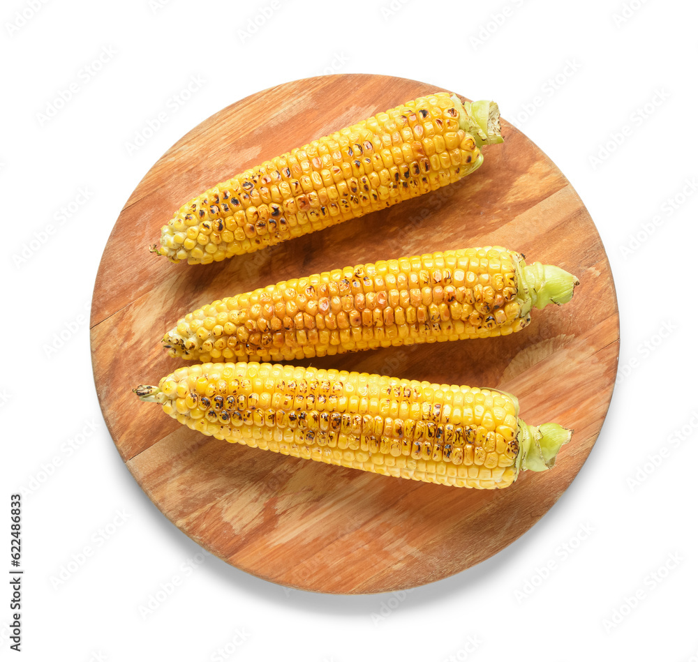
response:
M198 363L133 391L217 439L457 487L548 469L571 436L526 425L500 391L272 363Z

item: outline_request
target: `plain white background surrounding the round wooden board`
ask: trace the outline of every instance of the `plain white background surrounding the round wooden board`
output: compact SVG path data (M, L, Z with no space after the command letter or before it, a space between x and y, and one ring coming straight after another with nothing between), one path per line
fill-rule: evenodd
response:
M697 659L695 3L238 6L0 10L0 571L22 490L25 659ZM405 594L288 590L202 555L124 467L94 392L89 302L133 188L209 115L322 73L498 100L591 212L621 311L623 376L572 486L503 552Z

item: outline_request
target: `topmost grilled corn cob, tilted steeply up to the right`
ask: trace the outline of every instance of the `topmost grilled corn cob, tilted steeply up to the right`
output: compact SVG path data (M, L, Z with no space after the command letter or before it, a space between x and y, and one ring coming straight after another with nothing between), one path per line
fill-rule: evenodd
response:
M501 141L496 103L420 97L210 188L151 250L189 264L251 253L458 181Z

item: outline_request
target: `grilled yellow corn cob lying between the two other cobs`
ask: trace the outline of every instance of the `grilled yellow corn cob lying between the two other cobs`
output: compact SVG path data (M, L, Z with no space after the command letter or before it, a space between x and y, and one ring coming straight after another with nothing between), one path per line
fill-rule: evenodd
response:
M485 276L489 285L482 287ZM170 356L203 362L281 361L506 336L530 322L533 306L570 301L577 283L567 271L526 265L519 253L500 246L447 250L334 269L214 301L180 319L163 345Z

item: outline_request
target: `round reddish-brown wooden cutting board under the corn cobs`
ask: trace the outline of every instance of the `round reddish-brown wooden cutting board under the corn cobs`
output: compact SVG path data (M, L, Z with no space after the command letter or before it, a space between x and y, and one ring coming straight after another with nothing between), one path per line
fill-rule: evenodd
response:
M281 585L336 594L394 591L491 557L570 485L609 407L619 331L607 256L565 176L506 121L503 144L484 146L479 170L429 195L207 266L172 264L149 253L172 213L206 188L436 89L392 77L335 75L279 85L230 105L144 176L101 260L92 364L121 457L183 532L233 566ZM160 340L179 317L205 303L336 267L488 245L574 273L581 280L574 299L534 309L530 326L505 338L298 363L514 393L527 423L555 421L574 430L549 472L523 472L505 490L470 490L332 467L205 437L131 392L184 365L167 356Z

